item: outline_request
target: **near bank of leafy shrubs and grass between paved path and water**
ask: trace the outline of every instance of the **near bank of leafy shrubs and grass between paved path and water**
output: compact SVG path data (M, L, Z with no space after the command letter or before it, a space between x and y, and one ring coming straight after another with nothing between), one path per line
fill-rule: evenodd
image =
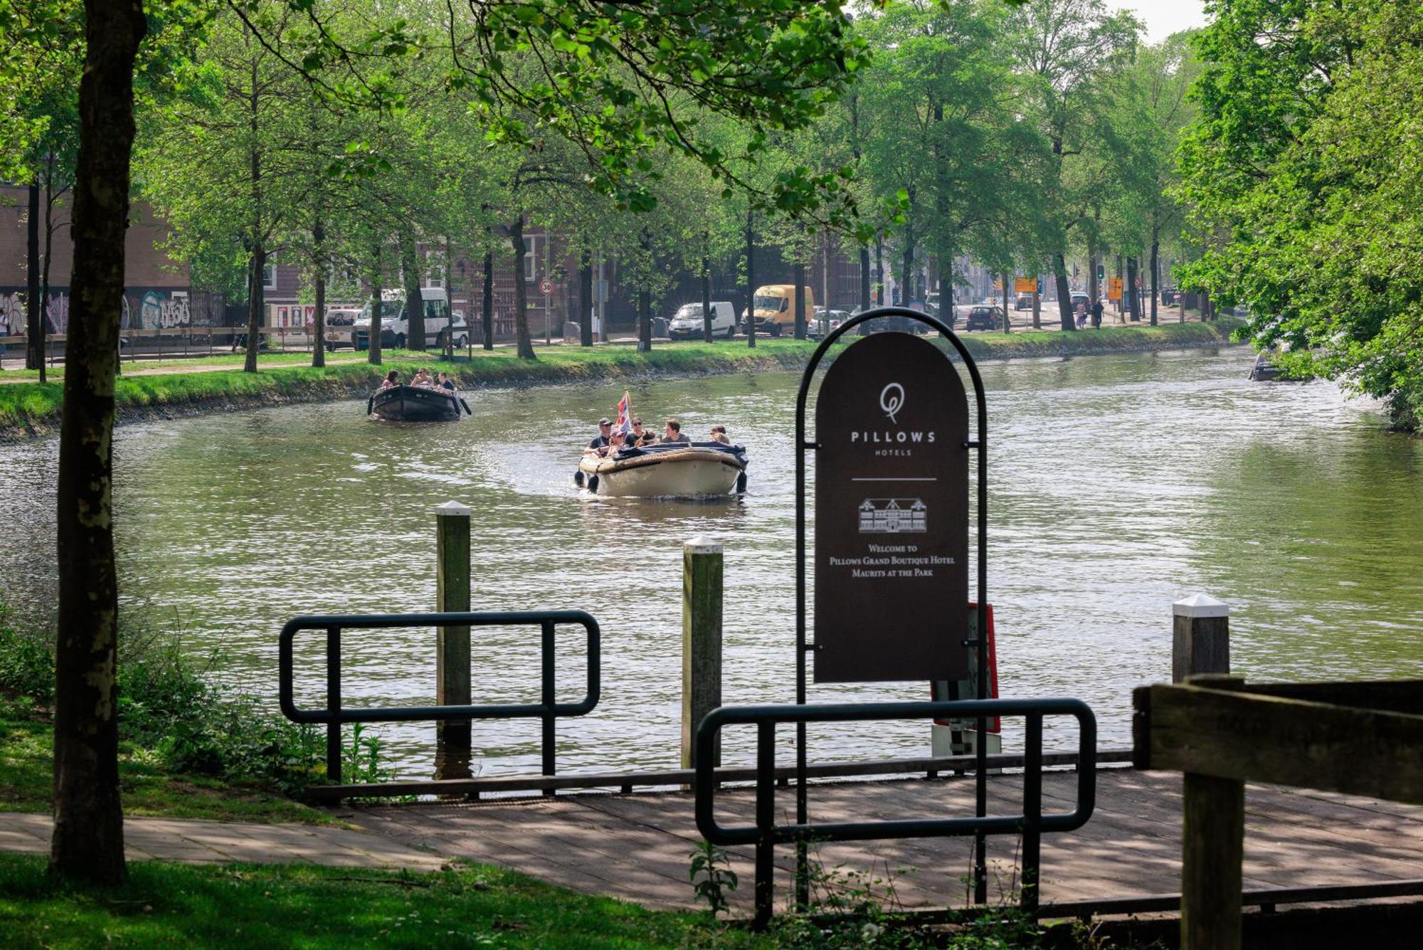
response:
M171 633L120 636L120 784L129 815L333 823L290 795L320 781L323 737L228 695ZM54 791L54 636L0 610L0 811L47 812ZM374 740L349 758L379 771Z

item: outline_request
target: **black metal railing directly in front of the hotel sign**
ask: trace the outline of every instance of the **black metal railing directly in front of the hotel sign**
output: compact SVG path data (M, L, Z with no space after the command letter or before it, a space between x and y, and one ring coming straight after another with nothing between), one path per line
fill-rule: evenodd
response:
M776 727L781 722L861 722L877 720L931 720L1022 715L1023 812L970 818L895 819L878 822L810 821L776 823ZM1079 725L1077 808L1043 813L1043 717L1070 715ZM756 823L724 828L716 821L716 738L727 725L756 725ZM756 924L771 917L778 843L879 840L888 838L949 838L956 835L1022 835L1022 904L1037 906L1037 869L1043 832L1081 828L1091 818L1097 798L1097 717L1080 700L956 700L946 703L830 703L815 705L723 705L697 725L696 818L697 831L719 846L756 845ZM797 892L803 889L797 886Z

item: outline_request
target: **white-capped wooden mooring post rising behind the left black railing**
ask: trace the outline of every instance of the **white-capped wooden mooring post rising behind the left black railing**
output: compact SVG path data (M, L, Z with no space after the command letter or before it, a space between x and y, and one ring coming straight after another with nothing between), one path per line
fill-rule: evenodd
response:
M470 509L435 508L435 612L470 610ZM470 705L470 627L435 630L435 705ZM470 720L435 724L435 778L470 778Z

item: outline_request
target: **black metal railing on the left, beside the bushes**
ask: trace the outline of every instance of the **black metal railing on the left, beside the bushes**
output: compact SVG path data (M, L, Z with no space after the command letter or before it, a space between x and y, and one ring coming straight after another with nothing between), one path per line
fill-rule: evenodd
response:
M579 624L588 633L588 687L578 703L555 697L555 629ZM388 627L517 627L538 626L542 651L542 693L538 703L492 705L394 705L347 710L342 705L342 631ZM326 631L326 708L303 710L293 695L293 641L303 630ZM342 781L342 725L346 722L418 722L440 720L542 720L542 765L556 774L555 722L561 717L586 715L598 705L602 691L602 634L598 621L583 610L514 610L480 613L370 613L313 614L293 617L282 627L277 641L277 676L282 714L293 722L326 724L326 776Z

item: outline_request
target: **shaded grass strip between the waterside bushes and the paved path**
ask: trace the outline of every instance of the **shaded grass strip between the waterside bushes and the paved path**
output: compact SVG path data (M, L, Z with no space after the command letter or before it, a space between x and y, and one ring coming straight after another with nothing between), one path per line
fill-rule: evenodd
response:
M48 712L28 697L0 691L0 811L50 811L53 744ZM340 823L323 811L280 795L233 788L218 778L172 775L154 761L151 752L132 742L120 745L118 775L127 815Z

